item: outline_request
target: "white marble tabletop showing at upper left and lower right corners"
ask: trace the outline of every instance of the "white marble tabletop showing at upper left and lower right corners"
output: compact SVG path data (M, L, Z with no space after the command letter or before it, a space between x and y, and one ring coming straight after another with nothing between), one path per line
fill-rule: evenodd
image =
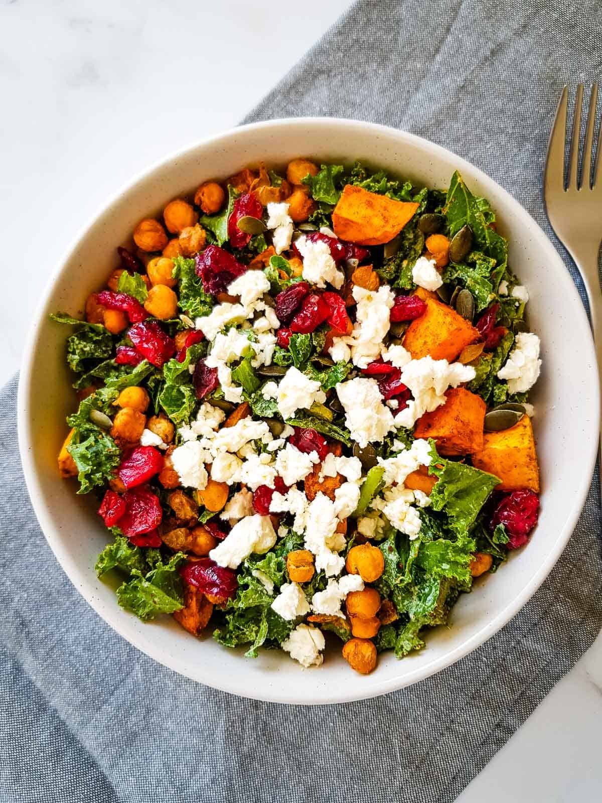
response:
M237 123L348 0L0 0L0 381L47 275L121 185ZM600 801L602 638L458 801Z

